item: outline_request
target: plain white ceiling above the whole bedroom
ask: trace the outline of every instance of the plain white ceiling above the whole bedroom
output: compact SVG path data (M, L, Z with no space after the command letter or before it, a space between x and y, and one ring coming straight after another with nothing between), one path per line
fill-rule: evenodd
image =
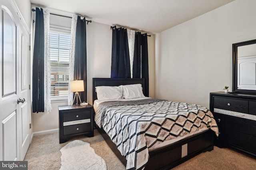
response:
M30 0L86 20L159 33L234 0ZM63 15L63 14L62 14Z

